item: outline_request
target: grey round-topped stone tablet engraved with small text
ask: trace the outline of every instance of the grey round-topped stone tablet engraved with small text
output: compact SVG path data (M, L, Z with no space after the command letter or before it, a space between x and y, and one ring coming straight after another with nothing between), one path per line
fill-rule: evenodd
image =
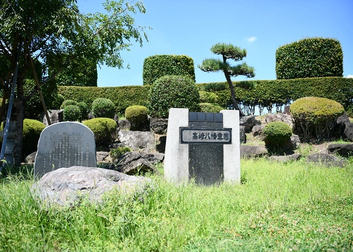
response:
M51 124L40 134L34 174L41 177L62 167L97 167L93 132L80 122Z

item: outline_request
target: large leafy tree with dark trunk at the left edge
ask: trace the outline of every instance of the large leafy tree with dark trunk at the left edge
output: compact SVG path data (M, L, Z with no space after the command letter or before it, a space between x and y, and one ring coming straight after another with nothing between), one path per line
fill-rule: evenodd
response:
M109 67L123 67L120 51L129 49L130 41L141 46L147 40L146 27L135 24L131 16L145 13L143 2L115 2L104 4L106 14L82 14L76 0L7 0L0 5L0 55L10 64L8 72L0 76L5 94L12 86L12 73L17 65L17 137L14 148L15 165L21 161L22 130L25 104L30 95L23 92L23 81L28 72L38 72L33 61L38 59L45 70L38 83L44 85L55 78L70 62L96 62ZM62 57L55 57L62 55ZM84 55L84 57L82 56ZM52 59L60 58L55 62ZM48 71L51 66L53 71ZM38 74L37 74L38 75Z

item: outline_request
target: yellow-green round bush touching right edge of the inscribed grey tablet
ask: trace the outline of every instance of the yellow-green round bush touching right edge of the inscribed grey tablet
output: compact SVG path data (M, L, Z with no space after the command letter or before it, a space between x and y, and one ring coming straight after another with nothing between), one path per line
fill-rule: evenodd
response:
M108 144L115 138L117 124L113 119L99 117L84 121L83 124L91 129L97 145Z

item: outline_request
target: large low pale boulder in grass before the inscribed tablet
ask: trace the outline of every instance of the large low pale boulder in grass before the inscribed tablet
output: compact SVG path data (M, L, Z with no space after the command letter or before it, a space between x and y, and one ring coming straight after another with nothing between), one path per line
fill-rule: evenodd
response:
M116 188L123 194L142 194L151 180L97 167L73 166L46 173L31 187L31 192L47 205L74 204L88 196L101 203L102 194Z

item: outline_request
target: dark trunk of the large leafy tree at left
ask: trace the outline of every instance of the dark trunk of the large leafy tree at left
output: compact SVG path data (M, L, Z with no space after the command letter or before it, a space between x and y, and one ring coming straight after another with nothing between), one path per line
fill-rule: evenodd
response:
M22 75L21 75L22 77ZM16 138L14 146L14 166L21 165L22 159L22 132L23 132L23 120L25 118L25 99L23 97L23 78L17 79L17 99L16 99Z

